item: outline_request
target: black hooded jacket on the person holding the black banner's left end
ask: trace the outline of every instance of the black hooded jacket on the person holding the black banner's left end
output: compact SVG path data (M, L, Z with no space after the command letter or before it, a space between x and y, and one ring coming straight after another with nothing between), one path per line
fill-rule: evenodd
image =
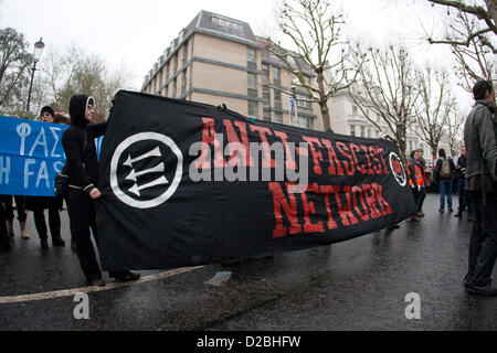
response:
M62 146L66 157L70 188L84 190L88 194L96 188L98 178L98 159L95 138L103 136L107 122L87 124L85 119L89 97L76 95L71 97L71 126L62 136Z

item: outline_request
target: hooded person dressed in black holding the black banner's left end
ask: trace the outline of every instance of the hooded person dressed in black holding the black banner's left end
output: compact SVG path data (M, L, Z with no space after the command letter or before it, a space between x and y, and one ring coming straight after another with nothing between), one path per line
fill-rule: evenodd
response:
M71 97L71 126L62 136L62 146L66 156L65 172L70 185L66 196L67 212L76 242L76 253L88 284L104 287L89 229L98 244L94 202L102 194L96 186L98 159L94 139L105 135L107 122L92 124L94 105L93 97ZM136 280L140 277L127 270L110 271L109 276L118 281Z

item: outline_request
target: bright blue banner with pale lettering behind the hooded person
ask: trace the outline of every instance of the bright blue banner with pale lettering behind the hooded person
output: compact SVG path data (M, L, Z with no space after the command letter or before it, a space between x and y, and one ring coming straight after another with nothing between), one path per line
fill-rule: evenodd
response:
M68 126L0 116L0 194L54 196L65 163L62 135ZM97 151L102 138L96 141Z

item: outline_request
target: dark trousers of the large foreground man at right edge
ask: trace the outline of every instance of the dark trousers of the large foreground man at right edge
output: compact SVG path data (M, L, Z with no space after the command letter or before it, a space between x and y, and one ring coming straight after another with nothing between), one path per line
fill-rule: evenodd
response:
M474 222L469 242L468 277L470 285L486 286L491 277L491 271L497 257L497 193L472 191L474 207Z

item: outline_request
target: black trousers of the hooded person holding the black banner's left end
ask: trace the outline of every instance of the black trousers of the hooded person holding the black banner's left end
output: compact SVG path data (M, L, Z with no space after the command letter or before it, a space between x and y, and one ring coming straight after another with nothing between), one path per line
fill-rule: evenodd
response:
M76 242L77 257L86 280L102 279L101 266L98 265L91 238L91 233L93 233L95 243L98 246L94 201L83 190L71 188L65 201L67 203L72 236L74 236ZM109 271L109 276L114 278L119 278L125 274L126 271L121 270Z

